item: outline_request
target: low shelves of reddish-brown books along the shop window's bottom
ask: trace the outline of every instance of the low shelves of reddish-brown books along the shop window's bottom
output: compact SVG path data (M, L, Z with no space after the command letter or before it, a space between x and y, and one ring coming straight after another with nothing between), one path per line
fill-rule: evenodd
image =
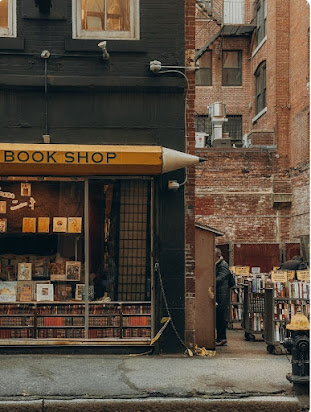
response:
M84 339L82 302L0 303L0 339ZM88 338L150 339L150 302L90 302Z

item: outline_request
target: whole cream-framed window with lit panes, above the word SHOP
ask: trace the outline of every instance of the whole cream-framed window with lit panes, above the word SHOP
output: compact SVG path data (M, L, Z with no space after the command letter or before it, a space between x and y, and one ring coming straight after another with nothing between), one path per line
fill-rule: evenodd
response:
M138 0L74 0L73 37L137 40L138 4Z

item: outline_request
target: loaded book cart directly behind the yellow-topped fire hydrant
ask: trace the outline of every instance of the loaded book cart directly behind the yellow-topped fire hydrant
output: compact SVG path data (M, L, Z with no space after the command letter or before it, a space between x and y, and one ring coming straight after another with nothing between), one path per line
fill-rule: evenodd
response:
M280 278L282 274L278 274ZM310 281L272 281L265 290L265 343L271 354L287 353L282 346L287 336L286 325L297 313L302 312L310 319ZM273 279L273 275L272 275Z

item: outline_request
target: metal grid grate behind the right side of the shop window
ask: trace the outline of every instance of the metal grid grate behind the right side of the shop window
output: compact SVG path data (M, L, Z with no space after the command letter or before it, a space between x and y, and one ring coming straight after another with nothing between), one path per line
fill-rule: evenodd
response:
M121 181L118 300L143 301L148 294L150 182Z

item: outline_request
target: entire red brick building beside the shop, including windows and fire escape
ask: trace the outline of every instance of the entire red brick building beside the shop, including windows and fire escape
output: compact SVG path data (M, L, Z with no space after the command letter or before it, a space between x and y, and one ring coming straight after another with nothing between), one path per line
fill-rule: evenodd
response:
M309 4L197 0L196 64L196 221L230 264L269 271L309 238Z

